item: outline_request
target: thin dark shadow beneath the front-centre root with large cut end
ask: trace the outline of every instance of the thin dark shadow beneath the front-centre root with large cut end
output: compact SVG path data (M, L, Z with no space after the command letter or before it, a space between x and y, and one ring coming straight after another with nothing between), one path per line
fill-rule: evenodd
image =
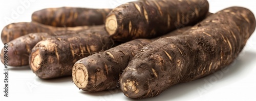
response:
M80 90L79 92L82 93L82 94L87 94L87 95L92 95L92 96L109 96L109 95L122 93L120 88L98 91L98 92L88 92L88 91Z

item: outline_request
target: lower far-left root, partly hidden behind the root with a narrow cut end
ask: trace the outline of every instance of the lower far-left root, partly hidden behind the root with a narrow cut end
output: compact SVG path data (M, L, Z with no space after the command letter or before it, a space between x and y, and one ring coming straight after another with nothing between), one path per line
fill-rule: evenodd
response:
M97 28L102 28L103 25L98 26L90 26L88 29L81 29L81 30L59 30L53 33L29 33L28 35L19 37L14 39L7 44L8 47L8 65L9 66L22 66L22 65L29 65L29 54L32 48L41 40L45 40L50 37L61 36L61 35L68 35L68 34L75 34L80 31L92 30ZM1 61L4 63L4 48L1 52Z

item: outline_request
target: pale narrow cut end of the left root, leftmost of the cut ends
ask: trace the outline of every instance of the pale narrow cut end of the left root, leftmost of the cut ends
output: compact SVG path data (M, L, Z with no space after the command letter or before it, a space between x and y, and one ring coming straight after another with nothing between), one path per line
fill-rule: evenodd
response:
M35 51L34 53L32 53L32 65L31 65L31 69L33 71L37 71L40 68L40 63L41 63L41 56L39 54L39 50Z

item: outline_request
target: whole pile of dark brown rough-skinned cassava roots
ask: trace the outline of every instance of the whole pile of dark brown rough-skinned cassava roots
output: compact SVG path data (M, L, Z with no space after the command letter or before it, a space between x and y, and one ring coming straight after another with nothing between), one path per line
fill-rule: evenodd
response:
M41 79L72 76L84 91L154 97L232 63L255 29L253 13L209 13L207 0L141 0L114 9L47 8L2 30L1 61Z

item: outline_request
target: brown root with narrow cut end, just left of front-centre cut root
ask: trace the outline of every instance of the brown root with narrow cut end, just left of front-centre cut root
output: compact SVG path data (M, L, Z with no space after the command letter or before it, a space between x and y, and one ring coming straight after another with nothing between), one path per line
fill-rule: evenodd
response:
M74 63L113 45L103 27L38 42L29 56L31 70L41 79L72 75Z

